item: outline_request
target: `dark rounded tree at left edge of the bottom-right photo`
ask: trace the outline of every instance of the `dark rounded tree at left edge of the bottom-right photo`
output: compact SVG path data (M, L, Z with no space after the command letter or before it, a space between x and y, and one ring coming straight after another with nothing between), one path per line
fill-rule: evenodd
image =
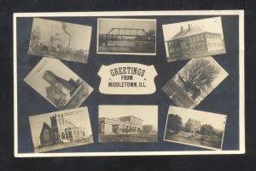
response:
M167 129L178 132L182 129L182 118L178 115L169 114L167 121Z

